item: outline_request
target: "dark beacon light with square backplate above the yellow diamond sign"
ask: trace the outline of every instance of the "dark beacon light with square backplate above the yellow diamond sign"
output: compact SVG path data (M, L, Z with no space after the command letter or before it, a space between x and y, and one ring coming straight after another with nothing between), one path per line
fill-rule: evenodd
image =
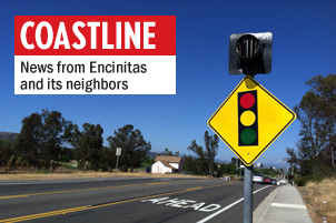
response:
M229 41L229 74L269 73L271 32L234 33Z

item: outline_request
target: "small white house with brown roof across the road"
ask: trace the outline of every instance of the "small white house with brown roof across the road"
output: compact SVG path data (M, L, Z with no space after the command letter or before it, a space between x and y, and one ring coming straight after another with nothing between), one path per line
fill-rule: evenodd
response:
M181 156L158 155L151 165L151 173L181 173L182 166Z

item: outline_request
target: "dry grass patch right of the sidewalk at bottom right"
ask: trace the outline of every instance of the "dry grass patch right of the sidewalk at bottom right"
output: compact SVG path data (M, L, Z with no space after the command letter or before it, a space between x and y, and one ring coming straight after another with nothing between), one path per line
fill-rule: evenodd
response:
M336 179L298 187L314 222L336 223Z

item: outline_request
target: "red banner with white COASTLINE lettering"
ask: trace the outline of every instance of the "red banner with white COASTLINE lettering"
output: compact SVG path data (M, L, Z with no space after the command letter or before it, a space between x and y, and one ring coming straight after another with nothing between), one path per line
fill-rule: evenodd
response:
M16 55L176 55L175 16L16 16Z

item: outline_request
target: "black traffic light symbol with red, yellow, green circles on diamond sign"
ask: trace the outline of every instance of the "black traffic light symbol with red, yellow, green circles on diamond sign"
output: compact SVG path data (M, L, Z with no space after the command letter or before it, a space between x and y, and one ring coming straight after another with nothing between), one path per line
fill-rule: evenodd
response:
M257 91L238 93L239 146L258 145Z

